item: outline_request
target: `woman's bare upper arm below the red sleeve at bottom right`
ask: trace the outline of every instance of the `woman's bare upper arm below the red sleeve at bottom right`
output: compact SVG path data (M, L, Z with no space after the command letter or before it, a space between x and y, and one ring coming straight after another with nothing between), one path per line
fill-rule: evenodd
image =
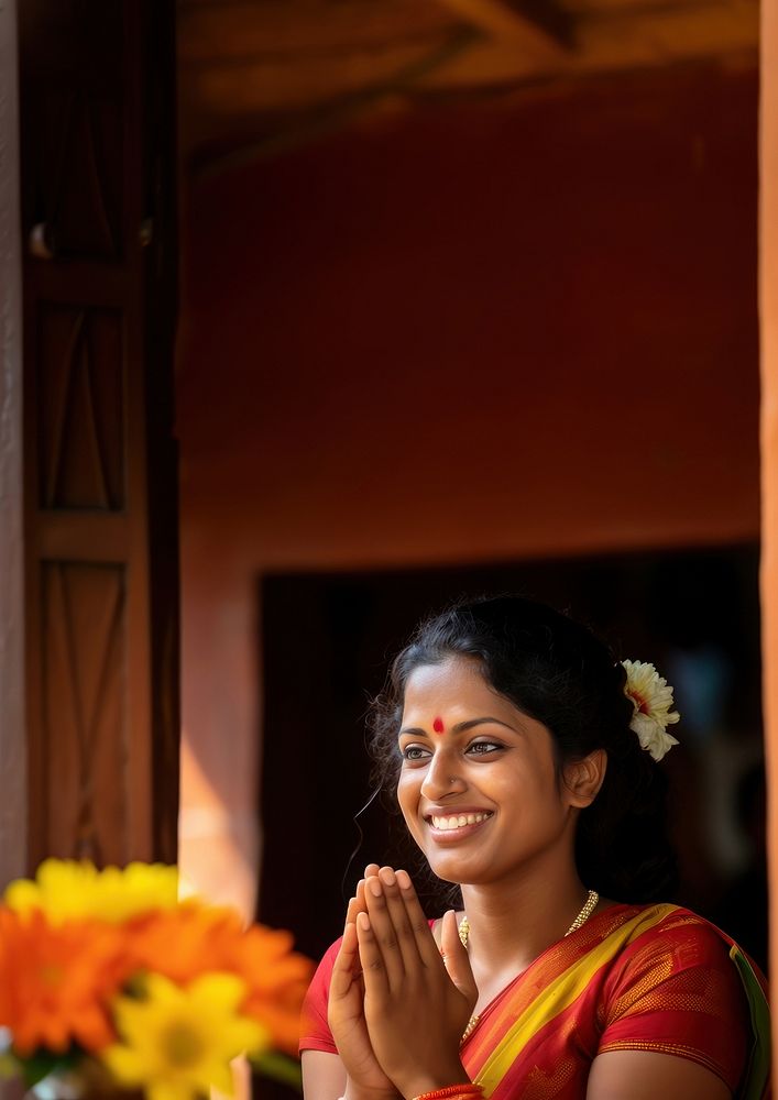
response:
M732 1100L712 1070L689 1058L647 1050L609 1050L592 1063L587 1100Z

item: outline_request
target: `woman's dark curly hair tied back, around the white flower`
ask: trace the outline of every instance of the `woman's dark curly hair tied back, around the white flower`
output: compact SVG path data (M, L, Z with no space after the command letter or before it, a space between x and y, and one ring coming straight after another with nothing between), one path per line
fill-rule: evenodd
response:
M588 627L544 604L519 596L473 600L418 627L372 708L371 750L382 784L396 788L409 675L451 657L476 660L500 695L550 730L558 777L563 765L605 750L605 779L579 816L578 872L584 886L615 901L667 900L676 884L667 780L629 729L626 673Z

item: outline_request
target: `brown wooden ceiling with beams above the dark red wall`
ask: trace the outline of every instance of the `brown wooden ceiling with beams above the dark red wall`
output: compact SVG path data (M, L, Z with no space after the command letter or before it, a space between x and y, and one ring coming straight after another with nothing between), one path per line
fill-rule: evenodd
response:
M574 22L574 50L540 25L549 11ZM178 12L185 160L273 155L418 94L754 64L758 43L758 0L178 0Z

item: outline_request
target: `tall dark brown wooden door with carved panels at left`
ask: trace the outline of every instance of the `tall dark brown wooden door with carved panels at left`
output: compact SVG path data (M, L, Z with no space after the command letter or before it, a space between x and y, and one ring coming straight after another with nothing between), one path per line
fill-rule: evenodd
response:
M29 858L175 859L172 0L19 6Z

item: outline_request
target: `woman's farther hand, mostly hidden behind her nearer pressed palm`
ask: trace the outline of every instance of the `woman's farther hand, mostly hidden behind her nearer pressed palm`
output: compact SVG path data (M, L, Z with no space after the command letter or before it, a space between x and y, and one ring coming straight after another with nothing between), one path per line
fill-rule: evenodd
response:
M370 864L368 875L376 875L379 867ZM364 879L357 887L357 895L349 902L346 913L343 942L335 960L330 980L327 1019L338 1054L349 1076L346 1094L349 1100L361 1097L384 1100L396 1098L397 1090L379 1065L373 1053L364 1019L364 985L359 959L355 921L359 913L366 913Z

